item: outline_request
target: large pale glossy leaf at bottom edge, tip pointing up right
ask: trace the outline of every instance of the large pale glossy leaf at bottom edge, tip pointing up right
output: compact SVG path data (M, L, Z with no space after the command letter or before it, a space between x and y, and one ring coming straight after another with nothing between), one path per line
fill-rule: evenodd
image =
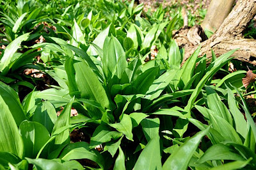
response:
M210 127L206 128L204 131L198 132L175 150L164 162L163 169L188 169L190 159L194 155L202 137L209 132L209 129Z

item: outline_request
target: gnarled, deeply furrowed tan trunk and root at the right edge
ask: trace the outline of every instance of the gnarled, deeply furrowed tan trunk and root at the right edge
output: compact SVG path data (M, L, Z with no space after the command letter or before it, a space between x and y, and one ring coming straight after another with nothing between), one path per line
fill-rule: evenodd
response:
M239 49L233 56L241 61L256 65L256 40L243 38L243 31L255 14L256 0L237 1L236 6L216 33L201 43L202 49L199 57L207 54L207 58L211 58L211 49L214 50L216 56L220 56L228 50ZM184 61L191 56L197 47L198 45L185 49Z

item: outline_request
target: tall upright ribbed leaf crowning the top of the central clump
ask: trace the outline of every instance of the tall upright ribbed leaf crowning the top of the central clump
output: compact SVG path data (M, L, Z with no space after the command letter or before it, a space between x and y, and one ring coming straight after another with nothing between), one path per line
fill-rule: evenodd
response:
M128 66L122 45L112 36L109 41L105 40L103 51L102 69L104 74L108 79L112 79L115 75L121 79L125 68Z

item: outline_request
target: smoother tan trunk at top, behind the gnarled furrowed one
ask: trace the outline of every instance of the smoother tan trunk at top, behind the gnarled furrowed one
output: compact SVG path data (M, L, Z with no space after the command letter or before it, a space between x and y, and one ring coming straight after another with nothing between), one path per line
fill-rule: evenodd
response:
M205 15L204 22L201 24L201 26L204 29L208 29L209 31L212 31L214 33L223 23L223 20L225 20L225 18L228 16L228 13L230 13L230 11L232 10L234 2L235 0L211 1L207 9L207 14Z

